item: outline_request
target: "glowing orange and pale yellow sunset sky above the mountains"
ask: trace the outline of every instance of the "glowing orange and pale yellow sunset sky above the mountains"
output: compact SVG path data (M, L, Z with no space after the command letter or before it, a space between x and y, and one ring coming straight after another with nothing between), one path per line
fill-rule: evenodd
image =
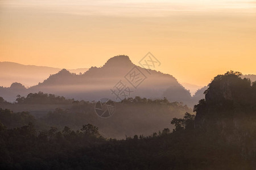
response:
M256 1L0 0L0 61L76 69L148 52L197 86L256 74Z

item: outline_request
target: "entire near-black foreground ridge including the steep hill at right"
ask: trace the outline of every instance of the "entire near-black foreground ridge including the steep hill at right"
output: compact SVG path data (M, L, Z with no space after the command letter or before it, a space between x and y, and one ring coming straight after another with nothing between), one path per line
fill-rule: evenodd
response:
M170 120L174 130L147 137L105 139L92 124L77 131L1 125L0 168L255 169L255 103L256 82L229 71L209 84L195 117L185 113Z

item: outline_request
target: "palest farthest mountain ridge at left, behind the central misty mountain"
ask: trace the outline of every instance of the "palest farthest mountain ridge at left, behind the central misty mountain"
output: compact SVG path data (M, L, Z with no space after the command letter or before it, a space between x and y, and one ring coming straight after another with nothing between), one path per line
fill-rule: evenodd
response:
M9 87L13 82L24 86L35 86L49 75L56 74L61 69L46 66L21 65L15 62L0 62L0 86ZM84 73L88 69L72 69L71 73Z

